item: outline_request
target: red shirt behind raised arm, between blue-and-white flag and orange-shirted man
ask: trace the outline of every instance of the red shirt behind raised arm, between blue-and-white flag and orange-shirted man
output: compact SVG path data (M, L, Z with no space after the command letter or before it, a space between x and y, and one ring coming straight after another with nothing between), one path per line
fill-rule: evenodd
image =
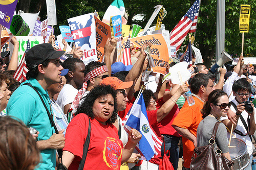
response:
M165 91L169 91L165 89ZM157 102L157 109L163 106L163 98L159 99ZM178 115L180 109L177 104L174 105L173 109L159 122L158 128L161 134L173 135L181 137L181 135L172 127L174 118Z

